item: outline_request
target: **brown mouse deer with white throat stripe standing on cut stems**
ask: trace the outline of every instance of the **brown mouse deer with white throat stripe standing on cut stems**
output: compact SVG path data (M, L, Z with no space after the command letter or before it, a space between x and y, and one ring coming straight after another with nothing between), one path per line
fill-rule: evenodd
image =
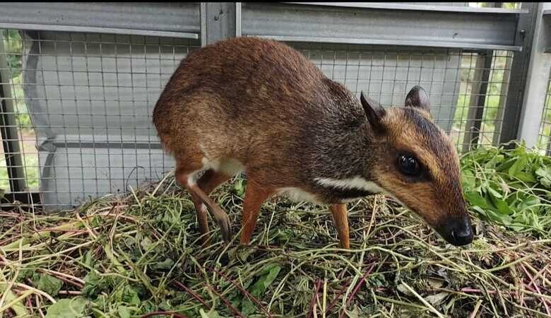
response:
M346 203L383 193L452 245L473 240L456 148L415 86L403 107L360 100L288 45L237 37L191 52L155 105L153 122L189 190L202 240L207 211L230 240L227 214L208 196L244 170L241 242L264 201L326 204L350 248Z

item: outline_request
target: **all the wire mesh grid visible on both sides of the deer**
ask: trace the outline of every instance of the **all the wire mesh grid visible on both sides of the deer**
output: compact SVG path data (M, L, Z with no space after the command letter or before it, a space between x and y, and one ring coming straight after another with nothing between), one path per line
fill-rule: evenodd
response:
M196 40L3 30L0 189L46 208L155 181L173 167L151 112ZM292 43L330 78L384 106L423 86L460 150L497 141L511 52ZM3 64L1 64L3 63Z

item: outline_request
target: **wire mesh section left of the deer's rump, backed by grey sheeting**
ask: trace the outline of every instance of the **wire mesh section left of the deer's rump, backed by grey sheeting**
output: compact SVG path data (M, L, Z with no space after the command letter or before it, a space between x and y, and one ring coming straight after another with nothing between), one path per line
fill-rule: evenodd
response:
M151 112L195 40L85 33L4 33L2 76L15 105L27 192L59 208L125 192L173 164ZM6 36L7 35L7 36ZM7 189L10 178L0 175ZM40 182L39 182L40 181ZM13 190L13 189L12 189Z

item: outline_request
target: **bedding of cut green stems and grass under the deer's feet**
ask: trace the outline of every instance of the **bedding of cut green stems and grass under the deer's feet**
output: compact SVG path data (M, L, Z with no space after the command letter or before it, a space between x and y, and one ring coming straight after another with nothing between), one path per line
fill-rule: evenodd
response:
M214 194L235 240L199 246L194 207L171 175L45 215L0 214L4 317L544 317L551 238L475 220L470 247L446 244L373 196L349 204L352 249L327 208L266 203L238 242L244 180Z

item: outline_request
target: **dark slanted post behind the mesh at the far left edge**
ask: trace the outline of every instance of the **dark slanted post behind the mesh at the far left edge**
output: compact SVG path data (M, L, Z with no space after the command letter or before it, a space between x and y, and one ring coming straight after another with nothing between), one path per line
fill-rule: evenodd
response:
M17 121L13 98L9 86L11 76L8 74L8 62L4 49L4 37L0 33L0 133L4 157L8 169L8 179L11 192L20 192L25 189L25 173L23 160L19 148Z

